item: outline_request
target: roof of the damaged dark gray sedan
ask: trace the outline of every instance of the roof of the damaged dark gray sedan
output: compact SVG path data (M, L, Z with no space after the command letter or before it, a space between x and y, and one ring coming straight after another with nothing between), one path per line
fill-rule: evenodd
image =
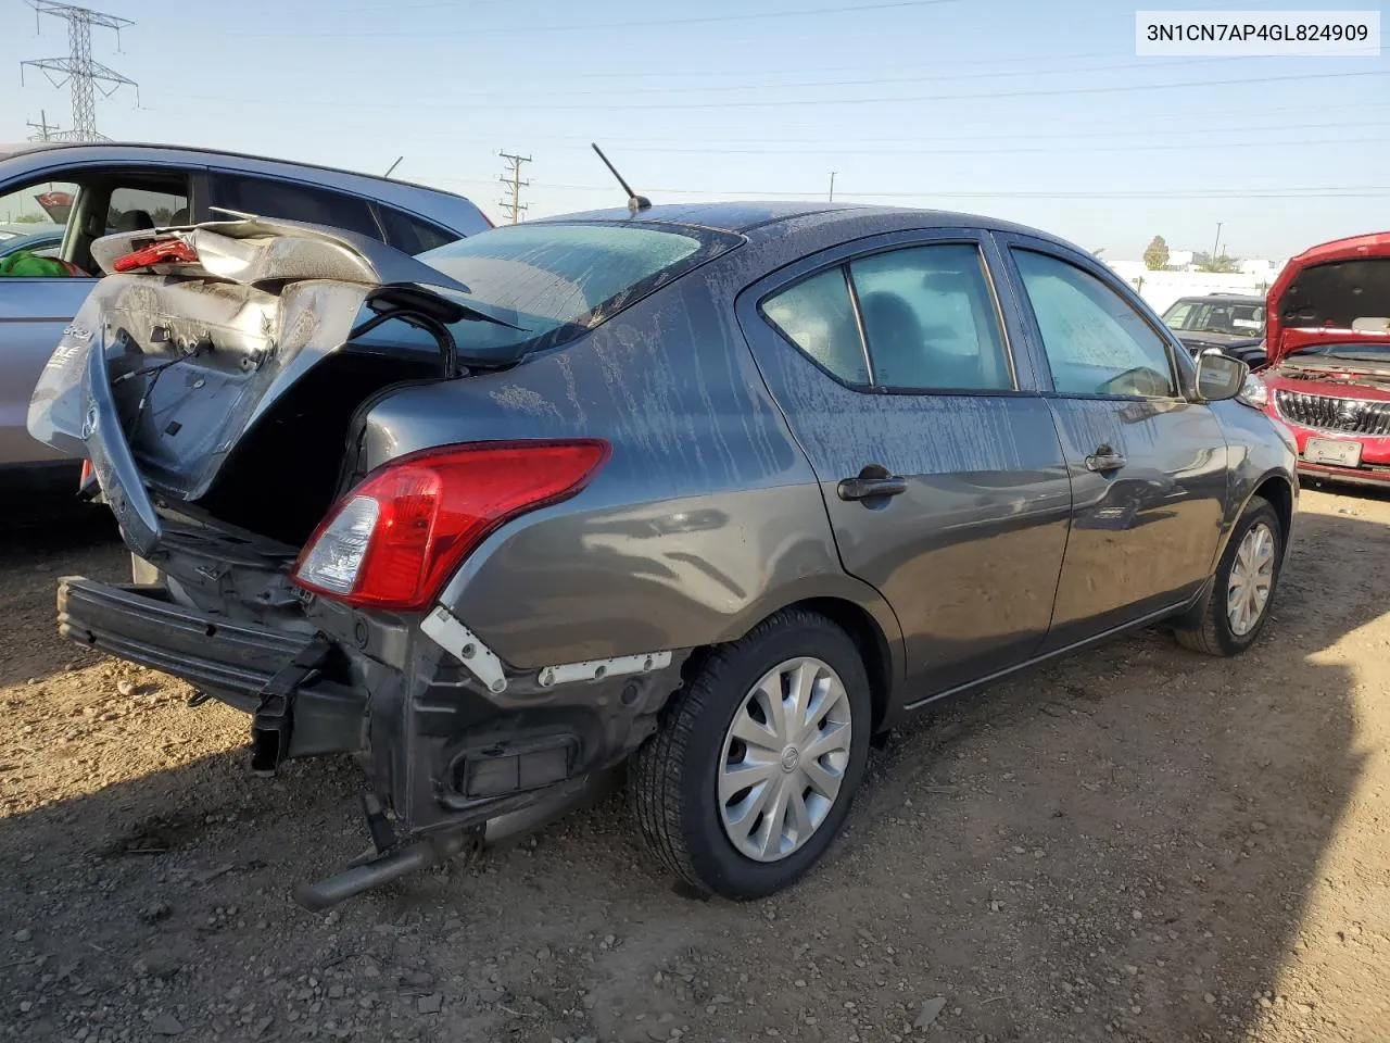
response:
M1027 225L1001 221L980 214L965 214L951 210L926 210L917 207L869 206L860 203L805 203L787 200L724 202L724 203L666 203L632 214L626 209L588 210L577 214L546 217L531 224L564 221L632 221L642 224L674 224L709 228L721 232L744 234L767 228L784 221L796 221L799 227L828 228L835 224L852 224L866 217L878 218L878 224L899 224L902 228L984 228L995 232L1013 232L1047 239L1062 246L1079 249L1049 232ZM897 218L897 220L894 220Z

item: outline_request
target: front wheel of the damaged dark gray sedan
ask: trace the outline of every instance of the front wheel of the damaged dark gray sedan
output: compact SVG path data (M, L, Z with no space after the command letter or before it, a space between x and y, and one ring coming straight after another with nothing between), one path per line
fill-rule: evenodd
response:
M1269 501L1255 496L1216 566L1201 624L1177 630L1179 644L1208 655L1238 655L1255 644L1269 619L1282 562L1279 516Z

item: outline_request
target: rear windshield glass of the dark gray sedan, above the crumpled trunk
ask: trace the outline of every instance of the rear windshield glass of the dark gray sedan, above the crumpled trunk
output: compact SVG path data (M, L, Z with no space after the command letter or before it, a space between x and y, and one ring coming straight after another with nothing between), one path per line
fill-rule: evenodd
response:
M538 223L495 228L420 254L499 323L452 328L463 355L550 348L738 245L684 225Z

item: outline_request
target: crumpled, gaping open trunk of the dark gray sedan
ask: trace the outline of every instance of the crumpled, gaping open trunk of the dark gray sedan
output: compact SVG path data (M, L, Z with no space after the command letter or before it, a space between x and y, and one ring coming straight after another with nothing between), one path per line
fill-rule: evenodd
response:
M118 274L64 331L29 430L90 459L146 559L189 541L292 558L359 477L363 406L456 370L441 292L461 288L361 236L240 220L93 253Z

